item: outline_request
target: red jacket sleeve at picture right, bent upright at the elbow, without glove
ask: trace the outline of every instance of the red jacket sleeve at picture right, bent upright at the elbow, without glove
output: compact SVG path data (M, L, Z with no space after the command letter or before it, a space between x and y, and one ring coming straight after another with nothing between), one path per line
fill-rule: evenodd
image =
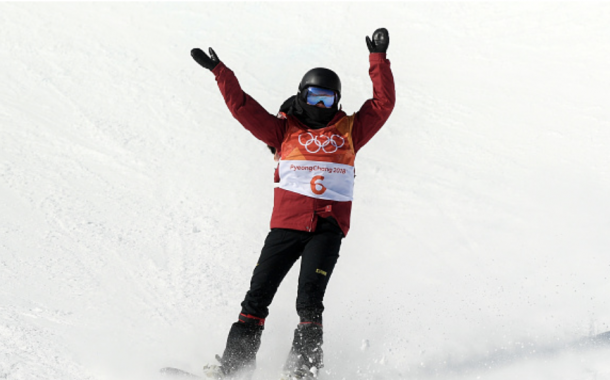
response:
M364 102L354 120L352 138L357 152L385 124L396 103L394 77L385 53L371 53L369 75L373 82L373 98Z

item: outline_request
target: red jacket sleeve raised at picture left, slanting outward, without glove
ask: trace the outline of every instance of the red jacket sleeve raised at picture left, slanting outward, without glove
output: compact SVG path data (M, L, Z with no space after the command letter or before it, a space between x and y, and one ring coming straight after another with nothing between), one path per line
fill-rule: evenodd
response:
M286 131L286 120L271 115L256 100L246 94L233 71L222 62L216 65L212 73L216 76L218 88L233 117L254 137L269 146L280 149Z

